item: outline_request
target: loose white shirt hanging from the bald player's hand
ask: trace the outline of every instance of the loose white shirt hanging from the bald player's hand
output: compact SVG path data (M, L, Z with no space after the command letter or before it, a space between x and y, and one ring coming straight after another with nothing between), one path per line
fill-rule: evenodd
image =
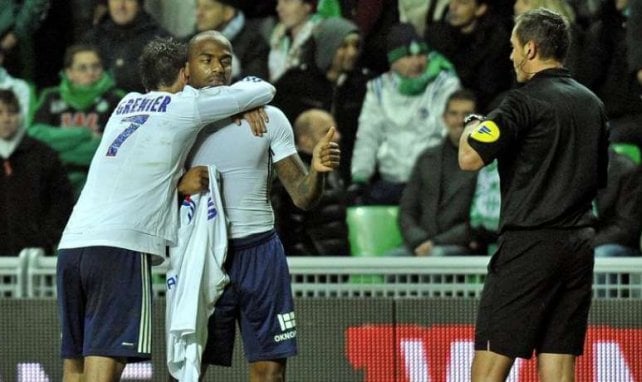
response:
M207 321L229 282L223 263L227 224L215 166L210 191L185 198L178 244L170 248L167 272L167 367L179 381L198 381L207 341Z

